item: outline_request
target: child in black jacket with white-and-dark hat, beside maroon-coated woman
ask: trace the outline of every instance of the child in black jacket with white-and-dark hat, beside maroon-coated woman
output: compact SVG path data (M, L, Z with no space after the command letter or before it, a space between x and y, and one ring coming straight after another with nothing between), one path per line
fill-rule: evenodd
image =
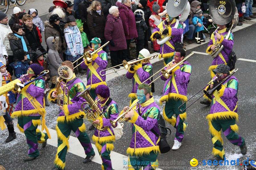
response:
M141 9L137 9L134 11L135 21L136 21L136 28L138 32L138 37L136 38L136 54L138 57L140 50L144 48L144 38L145 38L145 31L148 29L148 26L144 20L144 12Z

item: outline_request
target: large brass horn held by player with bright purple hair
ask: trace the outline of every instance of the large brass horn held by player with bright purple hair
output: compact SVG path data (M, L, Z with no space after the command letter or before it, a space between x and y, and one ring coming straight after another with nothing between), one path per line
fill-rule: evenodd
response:
M94 101L94 99L92 98L92 96L89 92L90 89L91 89L91 86L89 86L82 93L77 95L77 97L81 96L86 100L86 102L82 103L81 109L84 111L87 120L92 123L99 117L102 117L102 118L106 118L106 117L105 117L104 113L100 111L100 108L97 105L99 100ZM89 106L84 107L85 104L88 104L90 107ZM92 125L100 131L104 131L104 130L108 129L108 126L102 128L98 124L92 123Z

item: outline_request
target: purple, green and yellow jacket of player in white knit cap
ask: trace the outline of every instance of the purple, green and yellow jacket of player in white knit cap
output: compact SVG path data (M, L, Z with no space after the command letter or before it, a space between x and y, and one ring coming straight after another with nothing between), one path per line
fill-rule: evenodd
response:
M131 98L131 103L135 99L137 99L135 92L137 92L138 86L144 82L146 79L148 79L152 75L152 64L151 63L138 63L133 67L133 71L131 71L131 67L126 73L126 77L129 79L132 79L133 81L133 88L131 93L128 95L128 97ZM148 80L145 83L149 84L151 81Z

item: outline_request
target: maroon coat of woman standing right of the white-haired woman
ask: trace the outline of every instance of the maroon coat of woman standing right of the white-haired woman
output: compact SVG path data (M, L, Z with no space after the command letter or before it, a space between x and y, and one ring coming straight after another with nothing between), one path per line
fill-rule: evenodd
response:
M123 23L123 30L125 33L125 39L130 40L138 37L136 21L131 7L121 4L120 2L115 3L119 10L119 17Z

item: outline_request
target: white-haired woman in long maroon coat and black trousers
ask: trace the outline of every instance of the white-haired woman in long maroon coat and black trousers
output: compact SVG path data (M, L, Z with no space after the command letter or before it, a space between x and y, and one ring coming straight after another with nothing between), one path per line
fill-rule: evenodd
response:
M135 27L136 30L136 27ZM136 31L137 32L137 31ZM109 43L111 64L116 66L122 63L122 51L127 49L122 20L119 18L119 10L116 6L109 9L105 26L105 38ZM116 67L118 69L118 67ZM120 67L119 67L120 68Z

